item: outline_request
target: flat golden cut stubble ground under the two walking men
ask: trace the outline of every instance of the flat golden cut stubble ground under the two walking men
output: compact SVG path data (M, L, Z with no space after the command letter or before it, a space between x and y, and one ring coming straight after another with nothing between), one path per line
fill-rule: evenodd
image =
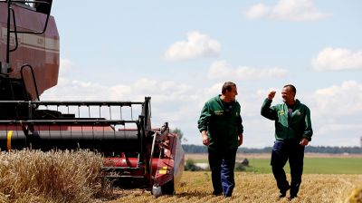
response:
M210 172L185 171L174 196L155 198L142 189L118 189L119 197L110 202L362 202L362 175L303 175L299 197L291 201L288 195L278 198L272 174L235 172L235 182L232 198L214 197ZM359 198L351 198L352 193Z

